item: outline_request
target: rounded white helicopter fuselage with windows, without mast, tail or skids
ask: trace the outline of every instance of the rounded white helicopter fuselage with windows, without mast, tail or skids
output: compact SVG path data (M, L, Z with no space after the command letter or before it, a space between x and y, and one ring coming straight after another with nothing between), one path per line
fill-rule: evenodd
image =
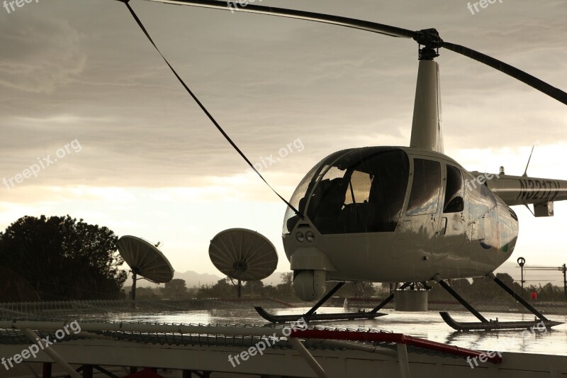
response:
M450 157L416 148L342 150L305 176L283 246L294 272L418 282L492 272L512 254L517 216Z

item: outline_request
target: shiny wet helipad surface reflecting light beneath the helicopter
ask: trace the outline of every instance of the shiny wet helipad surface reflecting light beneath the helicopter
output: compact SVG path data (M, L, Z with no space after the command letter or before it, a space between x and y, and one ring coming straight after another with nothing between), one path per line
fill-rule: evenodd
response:
M285 308L271 310L278 315L297 313L299 317L308 307ZM325 307L320 312L343 312L343 308ZM351 310L352 311L352 310ZM567 355L567 324L557 326L554 330L533 333L522 330L500 331L471 331L456 332L444 323L439 313L435 311L412 313L393 310L382 310L388 313L374 320L360 321L327 321L312 323L312 325L384 330L395 333L425 338L440 343L449 343L463 348L477 350L498 350L500 352L532 352L551 355ZM534 317L528 314L490 313L490 318L498 317L506 321L531 321ZM476 321L476 318L466 312L452 312L451 316L458 321ZM567 322L567 316L550 316L554 321ZM159 323L193 323L193 324L254 324L266 325L254 308L248 309L218 309L208 311L186 311L167 313L118 313L106 318L111 321L150 321ZM551 345L553 348L550 348Z

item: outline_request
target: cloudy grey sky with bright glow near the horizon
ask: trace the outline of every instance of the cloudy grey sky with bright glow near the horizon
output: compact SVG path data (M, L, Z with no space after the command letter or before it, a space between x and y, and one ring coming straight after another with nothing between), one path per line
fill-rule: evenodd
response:
M444 40L567 90L564 0L498 0L478 12L461 0L257 4L437 28ZM412 40L257 14L130 5L235 143L252 162L266 162L262 174L285 198L336 150L409 144ZM447 155L469 170L497 173L503 165L522 174L535 145L528 174L567 179L564 105L454 52L441 50L436 61ZM69 214L119 236L162 242L176 271L218 274L210 240L226 228L249 228L276 246L277 271L289 270L281 243L286 205L249 172L119 1L0 8L0 130L1 230L21 216ZM27 177L16 182L17 174ZM567 262L567 204L556 203L552 218L515 210L520 238L511 260Z

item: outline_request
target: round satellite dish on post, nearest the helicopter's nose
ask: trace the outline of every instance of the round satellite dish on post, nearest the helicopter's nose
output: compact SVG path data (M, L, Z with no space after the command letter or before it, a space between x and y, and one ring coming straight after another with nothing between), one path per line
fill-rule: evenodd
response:
M238 298L242 281L264 279L278 265L276 248L268 238L245 228L230 228L215 235L208 255L220 272L238 280Z

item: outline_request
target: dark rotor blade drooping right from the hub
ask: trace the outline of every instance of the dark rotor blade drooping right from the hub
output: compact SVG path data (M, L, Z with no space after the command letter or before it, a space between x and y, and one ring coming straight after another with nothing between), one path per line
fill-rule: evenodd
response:
M541 91L544 94L547 94L548 96L553 97L557 101L560 101L563 104L567 105L567 93L565 93L561 89L558 89L556 87L547 84L546 82L538 79L537 77L532 76L531 74L528 74L527 72L519 70L516 67L512 67L511 65L508 65L507 63L502 62L493 57L489 57L488 55L485 55L482 52L478 52L461 45L456 45L454 43L449 43L444 41L442 47L446 48L447 50L456 52L457 54L461 54L466 57L470 57L471 59L477 60L478 62L484 63L485 65L493 67L500 72L504 72L505 74L520 80L520 82L524 82L528 84L529 87L537 89L538 91Z

